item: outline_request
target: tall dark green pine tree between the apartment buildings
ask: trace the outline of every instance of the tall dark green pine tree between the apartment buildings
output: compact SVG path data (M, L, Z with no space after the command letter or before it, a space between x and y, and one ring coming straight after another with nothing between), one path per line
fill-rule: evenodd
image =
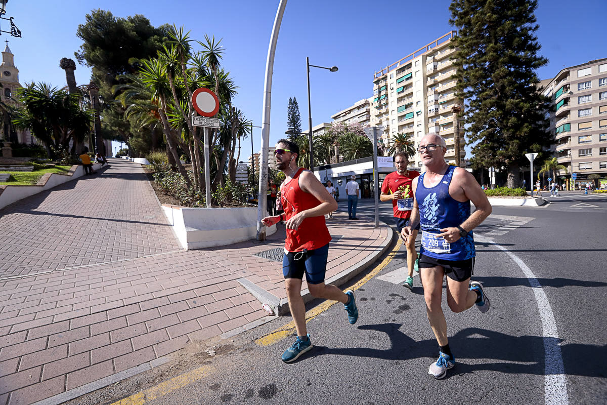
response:
M537 0L453 0L450 24L458 29L456 95L463 112L475 168L505 166L507 186L521 184L524 154L552 143L544 113L549 99L538 91L535 73L548 63L540 45L534 11Z

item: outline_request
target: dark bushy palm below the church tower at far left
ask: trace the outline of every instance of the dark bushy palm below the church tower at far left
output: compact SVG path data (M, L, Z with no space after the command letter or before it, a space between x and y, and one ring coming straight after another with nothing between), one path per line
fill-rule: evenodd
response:
M22 107L13 111L13 124L29 128L44 143L49 157L55 157L54 151L67 151L71 140L81 143L90 132L92 114L81 108L80 95L46 83L25 84L15 94ZM76 152L81 151L72 154Z

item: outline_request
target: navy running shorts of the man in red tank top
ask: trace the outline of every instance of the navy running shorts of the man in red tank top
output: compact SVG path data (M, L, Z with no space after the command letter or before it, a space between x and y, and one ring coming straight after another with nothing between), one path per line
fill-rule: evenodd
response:
M328 253L328 243L314 250L285 253L282 258L282 274L285 279L302 280L305 273L308 284L325 282Z

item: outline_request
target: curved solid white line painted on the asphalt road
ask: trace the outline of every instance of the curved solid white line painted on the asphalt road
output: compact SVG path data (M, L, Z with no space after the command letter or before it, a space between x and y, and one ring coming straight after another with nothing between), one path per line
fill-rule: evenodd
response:
M482 238L485 239L485 238ZM561 348L558 345L557 322L554 320L554 313L548 301L548 296L544 293L540 282L535 274L527 265L514 253L504 247L501 247L492 240L483 240L483 242L495 245L498 249L510 256L518 267L523 270L529 285L535 294L538 311L540 312L542 335L544 336L544 400L546 405L568 405L569 397L567 395L567 378L565 375L565 366L563 366L563 356Z

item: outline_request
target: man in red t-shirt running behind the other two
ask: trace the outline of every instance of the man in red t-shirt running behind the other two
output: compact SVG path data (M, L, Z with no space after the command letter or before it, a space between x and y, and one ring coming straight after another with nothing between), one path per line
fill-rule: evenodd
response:
M405 152L396 154L394 157L394 165L396 166L396 171L385 177L384 183L381 186L381 196L379 196L379 199L384 202L392 200L394 220L396 222L396 228L398 228L398 234L400 235L402 228L409 225L411 210L413 209L411 182L415 177L418 177L419 172L407 170L409 158ZM405 241L409 275L407 276L407 281L405 281L405 284L403 285L404 287L409 288L409 290L413 288L413 268L415 268L415 260L417 259L415 238L418 230L419 225L413 230L412 237Z

